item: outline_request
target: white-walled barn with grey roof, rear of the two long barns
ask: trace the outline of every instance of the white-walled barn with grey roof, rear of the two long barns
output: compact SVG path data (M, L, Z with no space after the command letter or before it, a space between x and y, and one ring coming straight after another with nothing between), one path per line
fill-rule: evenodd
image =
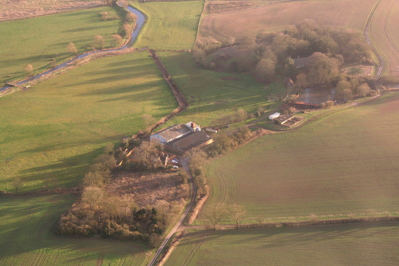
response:
M201 129L196 123L189 122L187 124L179 124L152 134L150 136L150 141L158 141L161 144L167 144L189 133L199 131L201 131Z

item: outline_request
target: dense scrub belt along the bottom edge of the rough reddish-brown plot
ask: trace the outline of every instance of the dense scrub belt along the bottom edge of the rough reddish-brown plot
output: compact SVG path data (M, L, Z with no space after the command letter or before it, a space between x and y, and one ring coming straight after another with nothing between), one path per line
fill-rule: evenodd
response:
M58 232L61 235L152 241L150 243L154 245L183 207L184 203L171 205L161 200L154 207L138 208L129 197L110 196L104 190L88 187L81 200L61 217Z

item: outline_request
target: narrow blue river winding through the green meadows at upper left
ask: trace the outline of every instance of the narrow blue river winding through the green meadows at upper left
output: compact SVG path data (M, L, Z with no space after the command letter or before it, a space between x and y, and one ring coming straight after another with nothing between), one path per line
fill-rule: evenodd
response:
M119 6L121 6L121 4L119 2L117 2L117 4ZM121 6L121 7L123 7L123 6ZM137 15L136 25L135 25L135 27L134 27L131 35L130 35L130 39L128 40L128 42L125 45L123 45L121 47L118 47L118 48L108 49L108 50L97 50L97 51L92 51L92 52L79 54L78 56L75 56L72 59L70 59L70 60L68 60L68 61L66 61L66 62L64 62L64 63L62 63L60 65L57 65L57 66L55 66L55 67L53 67L53 68L51 68L49 70L46 70L46 71L44 71L44 72L42 72L40 74L37 74L37 75L32 76L30 78L24 79L22 81L16 82L15 85L22 85L22 84L25 84L25 83L27 83L29 81L38 80L39 78L41 78L41 77L43 77L45 75L48 75L48 74L54 73L56 71L59 71L59 70L61 70L63 68L66 68L68 65L70 65L72 63L76 63L78 60L80 60L82 58L85 58L85 57L87 57L89 55L93 55L93 54L97 54L97 53L102 53L102 54L110 53L111 54L111 53L113 53L115 51L121 51L121 50L124 50L124 49L127 49L127 48L131 47L133 45L134 41L136 40L137 36L139 35L140 29L143 27L144 22L146 20L146 17L144 16L144 14L142 12L140 12L139 10L137 10L137 9L131 7L131 6L127 6L125 8L128 11L132 12L133 14ZM1 91L5 91L5 90L10 89L10 88L11 88L10 86L4 86L4 87L0 88L0 92Z

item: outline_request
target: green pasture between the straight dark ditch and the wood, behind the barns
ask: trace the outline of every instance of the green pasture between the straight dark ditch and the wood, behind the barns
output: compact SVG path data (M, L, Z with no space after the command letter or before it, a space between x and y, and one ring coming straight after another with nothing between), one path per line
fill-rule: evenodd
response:
M266 103L265 96L285 91L281 84L257 83L249 74L223 73L196 67L191 53L160 52L159 56L190 102L190 108L168 125L195 121L209 126L216 118L244 109L256 112L259 106L274 108L275 103ZM266 98L267 99L267 98ZM187 122L185 122L187 123Z

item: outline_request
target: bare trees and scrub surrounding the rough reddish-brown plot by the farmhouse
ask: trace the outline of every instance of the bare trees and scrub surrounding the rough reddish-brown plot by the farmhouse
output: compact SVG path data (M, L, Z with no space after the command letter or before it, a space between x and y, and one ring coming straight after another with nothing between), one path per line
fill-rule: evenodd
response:
M154 158L152 156L157 154L158 147L143 141L137 150L136 155L139 159L134 163L134 168L151 169ZM123 148L114 149L113 145L109 144L105 147L105 153L94 160L81 182L81 198L58 222L59 234L145 241L152 247L159 244L160 235L180 213L185 202L170 204L157 201L152 206L140 208L129 194L109 194L106 187L116 167L115 157L122 156L120 154L125 152ZM180 175L182 183L187 183L187 175Z

